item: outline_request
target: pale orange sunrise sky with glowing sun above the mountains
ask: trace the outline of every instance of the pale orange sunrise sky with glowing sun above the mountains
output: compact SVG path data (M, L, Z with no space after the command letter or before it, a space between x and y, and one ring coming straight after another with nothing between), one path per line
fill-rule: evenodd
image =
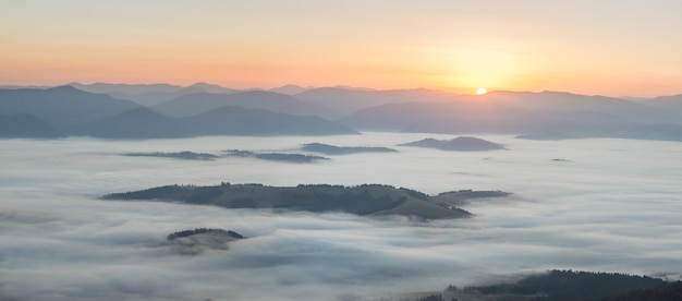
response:
M0 85L682 93L682 1L0 0Z

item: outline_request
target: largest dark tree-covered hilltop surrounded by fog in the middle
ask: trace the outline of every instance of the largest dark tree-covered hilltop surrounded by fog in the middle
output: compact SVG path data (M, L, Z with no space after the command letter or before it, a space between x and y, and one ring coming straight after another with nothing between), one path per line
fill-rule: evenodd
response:
M471 213L458 207L466 200L506 195L509 193L462 190L429 196L406 188L381 184L268 186L221 183L212 186L166 185L112 193L102 198L183 202L227 208L343 212L361 216L402 215L421 219L443 219L471 216Z

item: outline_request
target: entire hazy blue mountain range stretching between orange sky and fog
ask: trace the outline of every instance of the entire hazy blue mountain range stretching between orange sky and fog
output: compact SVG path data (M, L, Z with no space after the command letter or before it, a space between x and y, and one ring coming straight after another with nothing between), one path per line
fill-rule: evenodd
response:
M682 141L682 95L635 101L562 92L475 96L348 87L235 91L207 84L0 88L0 137L160 139L358 131ZM318 150L310 152L325 154L357 150L314 147Z

